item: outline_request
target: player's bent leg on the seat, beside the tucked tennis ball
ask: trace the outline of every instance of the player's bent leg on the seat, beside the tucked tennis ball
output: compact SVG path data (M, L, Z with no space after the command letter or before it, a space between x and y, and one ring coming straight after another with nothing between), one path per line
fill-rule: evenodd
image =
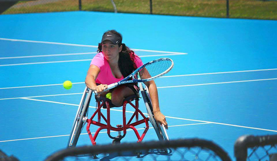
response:
M134 91L127 86L118 86L114 88L112 92L112 103L116 106L122 106L123 100L131 95L134 95Z

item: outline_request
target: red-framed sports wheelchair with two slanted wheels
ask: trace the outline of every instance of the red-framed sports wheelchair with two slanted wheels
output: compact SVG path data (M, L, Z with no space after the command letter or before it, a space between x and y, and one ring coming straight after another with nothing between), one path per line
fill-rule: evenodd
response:
M123 110L122 110L123 111L123 125L117 125L117 127L113 127L113 126L111 126L111 123L110 123L111 100L107 99L106 97L102 97L99 95L95 96L96 102L97 102L96 111L93 113L91 118L88 118L89 103L91 101L91 96L93 94L92 94L92 90L90 90L89 88L86 87L83 92L80 104L78 106L76 116L74 118L74 122L73 122L72 130L70 132L70 136L68 139L67 147L75 147L76 146L78 138L81 134L81 131L86 123L87 123L87 128L86 128L87 133L89 135L92 145L96 145L95 140L96 140L100 130L102 130L102 129L107 129L107 134L110 138L113 139L113 141L112 141L113 144L120 143L120 140L126 135L126 129L129 129L129 128L133 129L133 131L135 132L136 137L138 138L137 142L141 142L143 140L146 132L149 129L148 121L150 121L150 123L154 127L159 140L169 140L164 126L159 125L159 123L154 118L152 103L151 103L151 99L149 97L149 91L148 91L147 86L145 86L142 83L139 83L139 88L140 88L141 96L144 100L144 103L145 103L145 106L147 109L148 117L145 117L145 115L141 112L141 110L139 110L139 98L136 95L132 95L132 96L127 97L123 101ZM132 101L135 101L135 105L132 103ZM105 116L101 112L101 110L103 109L102 107L104 107L103 106L104 103L106 104L107 118L105 118ZM130 104L135 109L135 112L131 116L128 123L126 123L126 105L127 104ZM143 119L139 120L139 114L143 117ZM96 115L97 115L97 121L93 121L93 118ZM134 117L136 118L136 121L134 123L131 123L131 121L134 119ZM106 124L101 123L101 118L105 121ZM145 123L146 127L145 127L143 134L140 136L139 132L137 131L137 129L134 126L140 125L143 123ZM92 136L92 134L89 130L89 127L91 124L99 126L99 128L95 132L94 136ZM116 136L116 137L111 136L111 134L110 134L111 130L118 131L118 136ZM121 135L121 131L123 131L123 135Z

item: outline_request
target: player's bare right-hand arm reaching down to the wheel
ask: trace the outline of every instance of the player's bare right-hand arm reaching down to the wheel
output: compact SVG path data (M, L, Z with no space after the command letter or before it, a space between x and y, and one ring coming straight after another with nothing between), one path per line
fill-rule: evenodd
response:
M158 121L159 123L162 123L164 125L164 127L166 129L168 129L165 116L160 111L158 90L157 90L157 86L156 86L154 80L144 82L144 84L149 89L149 95L150 95L150 98L152 101L153 113L154 113L156 121Z

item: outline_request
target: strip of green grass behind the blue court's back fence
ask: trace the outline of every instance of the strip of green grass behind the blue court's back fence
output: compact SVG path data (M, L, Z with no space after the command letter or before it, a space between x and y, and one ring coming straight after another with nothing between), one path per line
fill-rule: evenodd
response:
M47 2L47 0L44 0ZM61 0L55 3L10 8L3 14L58 12L78 10L78 0ZM149 14L149 0L114 0L117 11ZM152 0L153 14L226 17L226 0ZM277 20L277 1L229 0L230 18L255 18ZM110 0L82 0L82 10L114 12Z

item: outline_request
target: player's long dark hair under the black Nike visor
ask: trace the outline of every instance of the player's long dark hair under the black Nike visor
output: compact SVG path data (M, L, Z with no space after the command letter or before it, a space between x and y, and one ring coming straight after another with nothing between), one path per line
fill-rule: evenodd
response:
M116 34L117 36L120 36L122 39L122 35L115 30L109 30L109 31L105 32L104 34ZM120 42L118 44L119 47L120 47L120 45L122 45L122 50L121 50L121 52L119 52L118 67L119 67L121 74L124 77L127 77L138 67L134 63L134 57L135 57L134 51L130 50L129 47L127 47L122 42ZM97 53L99 53L99 52L102 52L102 43L98 44Z

